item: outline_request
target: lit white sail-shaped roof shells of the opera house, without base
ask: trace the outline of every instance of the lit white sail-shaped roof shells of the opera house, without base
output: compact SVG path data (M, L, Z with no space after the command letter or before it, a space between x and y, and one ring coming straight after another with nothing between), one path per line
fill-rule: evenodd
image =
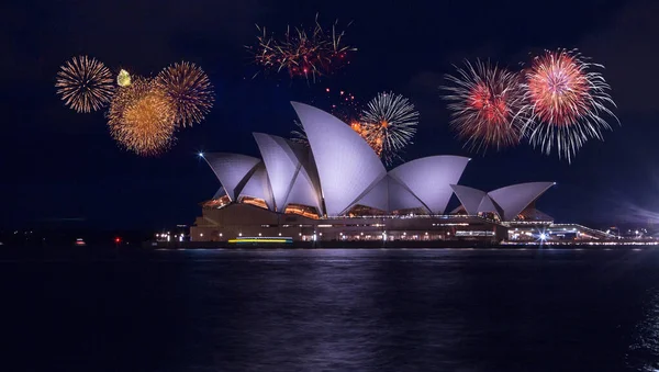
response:
M310 148L279 136L255 133L263 160L225 153L204 156L232 201L239 196L266 201L272 211L288 204L315 207L327 216L345 214L356 204L386 212L423 208L444 214L455 193L468 214L498 213L514 219L554 182L529 182L489 193L458 185L469 161L459 156L432 156L387 172L378 155L347 124L313 106L291 102ZM324 203L323 203L324 202ZM324 208L324 210L323 210Z

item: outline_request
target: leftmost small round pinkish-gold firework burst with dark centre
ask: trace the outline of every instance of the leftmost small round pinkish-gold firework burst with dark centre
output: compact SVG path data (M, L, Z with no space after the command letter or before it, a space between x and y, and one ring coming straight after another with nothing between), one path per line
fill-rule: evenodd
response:
M65 104L77 112L97 111L114 93L110 69L88 56L67 60L57 72L55 87Z

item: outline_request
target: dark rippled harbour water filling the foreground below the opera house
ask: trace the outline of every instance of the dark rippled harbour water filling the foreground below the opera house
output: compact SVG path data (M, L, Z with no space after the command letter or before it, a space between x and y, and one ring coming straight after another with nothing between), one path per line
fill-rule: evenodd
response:
M25 371L583 372L659 361L659 251L649 249L0 263L3 365Z

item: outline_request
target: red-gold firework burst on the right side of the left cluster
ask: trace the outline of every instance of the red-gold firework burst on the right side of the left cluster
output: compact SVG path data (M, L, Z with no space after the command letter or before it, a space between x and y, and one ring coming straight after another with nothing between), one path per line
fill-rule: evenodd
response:
M158 74L155 83L174 103L178 125L199 124L213 106L213 86L194 64L174 64Z

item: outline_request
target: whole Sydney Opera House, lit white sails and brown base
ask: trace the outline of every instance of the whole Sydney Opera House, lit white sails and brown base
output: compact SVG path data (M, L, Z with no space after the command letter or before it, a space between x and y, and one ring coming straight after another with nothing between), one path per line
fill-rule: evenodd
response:
M477 190L459 184L470 159L450 155L387 171L350 126L313 106L292 105L309 147L255 133L260 158L203 155L222 188L201 204L202 216L190 229L192 241L501 241L561 229L535 208L554 182ZM454 194L460 206L447 211Z

